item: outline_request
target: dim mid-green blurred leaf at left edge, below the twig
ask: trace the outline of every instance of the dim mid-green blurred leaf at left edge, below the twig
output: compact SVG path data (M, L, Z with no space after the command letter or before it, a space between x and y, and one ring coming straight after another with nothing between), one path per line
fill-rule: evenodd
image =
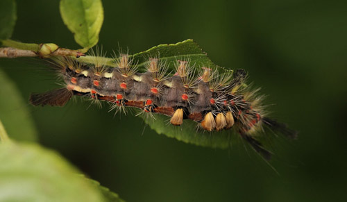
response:
M13 140L35 141L37 131L27 103L15 83L0 69L0 119Z

